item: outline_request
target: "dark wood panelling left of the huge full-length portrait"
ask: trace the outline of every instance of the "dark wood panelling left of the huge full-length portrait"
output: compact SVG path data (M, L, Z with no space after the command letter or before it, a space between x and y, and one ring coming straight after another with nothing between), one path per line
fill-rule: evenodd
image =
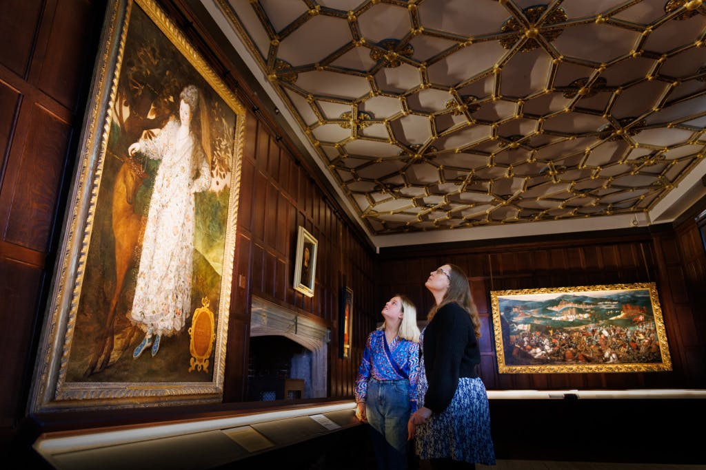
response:
M0 432L22 416L101 1L0 2Z

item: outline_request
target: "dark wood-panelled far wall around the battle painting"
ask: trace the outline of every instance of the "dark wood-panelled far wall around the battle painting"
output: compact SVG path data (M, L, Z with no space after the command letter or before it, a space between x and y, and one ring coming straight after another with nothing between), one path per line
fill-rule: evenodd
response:
M376 299L403 292L424 320L433 298L424 287L445 263L469 276L481 316L481 377L489 390L703 388L706 385L706 254L693 218L671 225L613 235L585 233L528 243L489 240L444 247L382 249ZM491 290L618 283L657 283L673 371L651 373L498 373Z

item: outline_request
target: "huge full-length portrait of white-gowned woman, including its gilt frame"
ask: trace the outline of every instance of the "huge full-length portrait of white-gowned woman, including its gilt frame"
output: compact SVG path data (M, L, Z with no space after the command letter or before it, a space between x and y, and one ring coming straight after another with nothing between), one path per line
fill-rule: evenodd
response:
M222 400L245 111L152 0L107 6L33 412Z

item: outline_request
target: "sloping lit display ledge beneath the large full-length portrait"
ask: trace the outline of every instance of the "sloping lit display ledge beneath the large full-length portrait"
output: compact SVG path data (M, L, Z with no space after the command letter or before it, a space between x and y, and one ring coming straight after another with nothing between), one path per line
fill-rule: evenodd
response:
M44 433L32 445L57 470L213 469L357 426L354 402L110 430Z

